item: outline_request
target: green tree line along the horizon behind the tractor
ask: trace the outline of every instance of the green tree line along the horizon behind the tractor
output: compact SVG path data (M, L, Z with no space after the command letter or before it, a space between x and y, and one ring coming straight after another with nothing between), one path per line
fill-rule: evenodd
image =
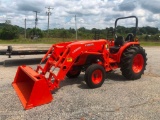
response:
M113 30L112 27L105 29L86 29L85 27L79 28L78 39L96 39L97 38L107 38L109 32ZM118 26L116 28L116 34L126 36L128 33L131 33L135 30L134 27L124 27ZM24 37L25 29L19 26L14 26L7 23L0 23L0 39L2 40L12 40L18 39L20 36ZM48 30L41 30L39 28L27 28L26 37L28 39L34 38L72 38L75 39L76 31L74 28L64 29L64 28L54 28ZM138 28L137 35L140 39L149 41L160 41L160 31L155 27L140 27ZM113 36L114 37L114 36Z

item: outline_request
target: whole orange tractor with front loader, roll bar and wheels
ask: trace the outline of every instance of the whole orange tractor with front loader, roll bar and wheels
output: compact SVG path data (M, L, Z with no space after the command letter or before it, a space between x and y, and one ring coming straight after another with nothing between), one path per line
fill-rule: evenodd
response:
M84 79L90 88L100 87L105 80L105 72L120 68L128 80L141 78L146 68L146 53L136 39L138 19L135 16L134 33L124 39L115 34L114 40L99 39L73 41L54 44L45 54L41 63L33 70L29 66L19 66L12 83L24 109L46 104L52 101L51 91L67 76L76 78L85 72ZM114 32L116 33L116 32Z

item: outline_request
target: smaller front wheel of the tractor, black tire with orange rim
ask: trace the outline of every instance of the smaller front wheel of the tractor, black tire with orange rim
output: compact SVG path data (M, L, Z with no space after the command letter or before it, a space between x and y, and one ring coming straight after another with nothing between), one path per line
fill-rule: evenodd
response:
M88 87L101 87L105 80L105 70L101 65L92 64L87 68L84 78Z

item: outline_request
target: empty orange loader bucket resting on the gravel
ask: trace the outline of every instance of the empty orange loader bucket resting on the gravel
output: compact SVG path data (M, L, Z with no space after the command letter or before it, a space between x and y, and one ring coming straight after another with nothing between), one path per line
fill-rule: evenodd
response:
M45 77L27 66L18 67L12 86L26 110L53 99Z

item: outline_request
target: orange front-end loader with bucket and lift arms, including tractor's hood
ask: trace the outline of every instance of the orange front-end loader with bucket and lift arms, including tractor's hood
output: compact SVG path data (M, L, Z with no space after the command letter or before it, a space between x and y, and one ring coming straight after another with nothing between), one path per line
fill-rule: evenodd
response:
M70 78L79 75L82 66L88 64L88 55L103 57L105 45L106 40L56 44L42 59L41 62L48 59L44 67L38 65L33 70L25 65L19 66L12 85L24 108L51 102L53 98L50 92L59 88L61 80L66 75Z

